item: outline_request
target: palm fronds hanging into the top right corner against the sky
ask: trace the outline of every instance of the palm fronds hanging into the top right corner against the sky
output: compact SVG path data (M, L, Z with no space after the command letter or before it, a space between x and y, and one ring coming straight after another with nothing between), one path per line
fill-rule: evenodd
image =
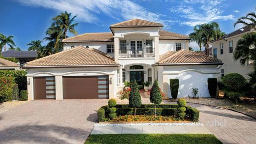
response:
M245 26L251 27L252 29L256 30L256 13L250 12L246 16L239 18L237 22L234 23L234 27L237 24L244 24Z

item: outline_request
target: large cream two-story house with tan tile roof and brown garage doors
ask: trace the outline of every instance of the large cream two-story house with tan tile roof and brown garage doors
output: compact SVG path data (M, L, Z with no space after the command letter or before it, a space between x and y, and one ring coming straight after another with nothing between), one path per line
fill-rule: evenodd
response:
M178 97L209 97L207 79L222 62L189 51L190 38L162 30L160 23L133 19L111 32L85 33L63 40L64 51L24 65L29 99L113 98L125 81L159 81L171 97L169 79L179 79ZM152 84L151 84L152 86Z

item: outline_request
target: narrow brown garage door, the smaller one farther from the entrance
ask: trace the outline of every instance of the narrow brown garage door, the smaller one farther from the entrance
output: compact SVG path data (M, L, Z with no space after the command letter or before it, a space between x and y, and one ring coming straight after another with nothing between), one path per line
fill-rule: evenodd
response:
M55 77L34 77L34 99L55 98Z

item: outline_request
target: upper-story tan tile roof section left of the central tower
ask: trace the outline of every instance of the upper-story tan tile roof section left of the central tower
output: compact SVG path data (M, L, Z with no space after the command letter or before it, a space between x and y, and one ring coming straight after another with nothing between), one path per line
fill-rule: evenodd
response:
M101 42L101 41L114 41L112 32L96 32L96 33L84 33L63 39L62 42Z

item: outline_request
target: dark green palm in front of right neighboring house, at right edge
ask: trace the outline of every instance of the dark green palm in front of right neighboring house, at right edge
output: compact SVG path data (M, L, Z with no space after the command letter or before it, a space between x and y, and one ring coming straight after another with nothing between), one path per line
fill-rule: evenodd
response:
M256 32L247 33L237 41L233 57L240 59L241 65L250 59L256 61Z

